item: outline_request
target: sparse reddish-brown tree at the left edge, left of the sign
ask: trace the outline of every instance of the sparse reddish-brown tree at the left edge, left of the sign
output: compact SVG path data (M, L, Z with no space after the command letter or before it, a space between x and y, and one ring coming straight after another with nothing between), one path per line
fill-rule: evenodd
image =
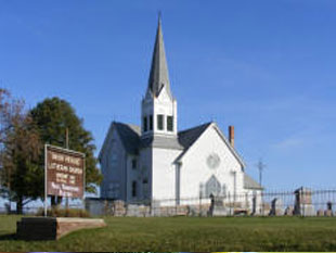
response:
M17 213L43 190L38 166L40 141L24 102L0 89L1 192L16 202Z

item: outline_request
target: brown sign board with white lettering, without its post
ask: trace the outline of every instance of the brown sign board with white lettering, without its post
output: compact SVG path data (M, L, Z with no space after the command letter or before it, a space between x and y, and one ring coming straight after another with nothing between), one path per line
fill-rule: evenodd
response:
M48 195L83 198L85 154L46 146L46 188Z

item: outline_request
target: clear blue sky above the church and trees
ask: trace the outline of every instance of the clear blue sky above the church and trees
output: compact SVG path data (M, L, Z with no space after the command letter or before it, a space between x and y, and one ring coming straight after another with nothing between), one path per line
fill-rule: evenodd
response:
M99 150L113 119L140 122L158 10L179 129L234 125L269 189L334 187L335 0L0 0L0 86L69 101Z

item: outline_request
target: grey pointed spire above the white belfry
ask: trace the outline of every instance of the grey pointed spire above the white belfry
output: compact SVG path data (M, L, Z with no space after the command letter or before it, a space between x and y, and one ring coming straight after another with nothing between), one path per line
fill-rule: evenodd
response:
M163 89L166 89L172 99L159 12L147 92L150 91L153 97L157 97Z

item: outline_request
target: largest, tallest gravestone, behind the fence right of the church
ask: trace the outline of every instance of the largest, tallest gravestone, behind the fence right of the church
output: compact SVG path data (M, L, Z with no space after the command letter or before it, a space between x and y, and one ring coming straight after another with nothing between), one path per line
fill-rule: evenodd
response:
M295 192L294 214L302 216L314 216L315 211L312 205L312 191L308 188L300 187Z

